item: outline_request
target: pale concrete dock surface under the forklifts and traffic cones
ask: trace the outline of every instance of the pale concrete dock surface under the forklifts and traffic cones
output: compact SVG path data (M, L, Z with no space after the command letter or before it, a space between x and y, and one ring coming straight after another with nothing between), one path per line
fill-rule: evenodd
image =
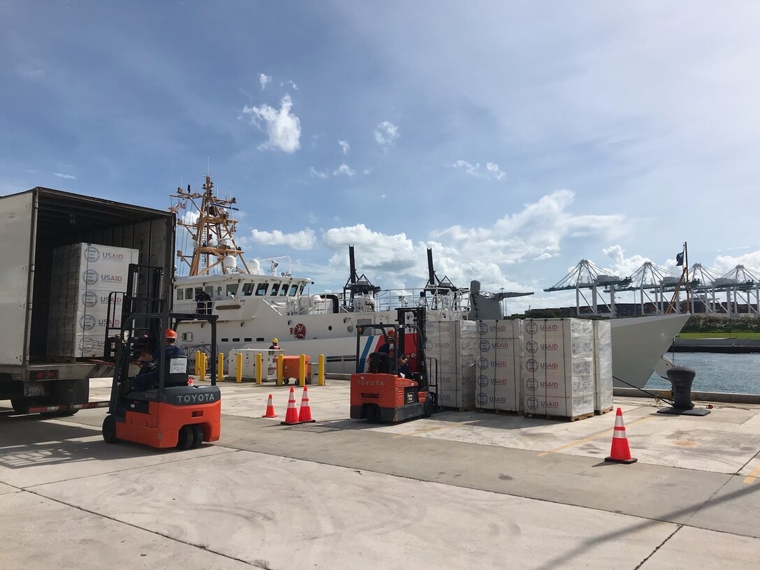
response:
M316 423L281 426L288 387L221 388L221 439L191 451L106 445L105 410L0 410L3 567L760 566L758 405L617 397L638 458L622 465L603 461L613 413L376 426L333 381L309 386ZM268 394L280 418L261 418Z

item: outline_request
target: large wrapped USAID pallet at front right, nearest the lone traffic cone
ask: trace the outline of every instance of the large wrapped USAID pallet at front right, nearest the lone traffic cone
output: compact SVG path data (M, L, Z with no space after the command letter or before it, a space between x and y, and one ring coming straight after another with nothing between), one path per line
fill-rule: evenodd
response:
M594 323L578 318L523 324L524 413L578 418L594 413Z

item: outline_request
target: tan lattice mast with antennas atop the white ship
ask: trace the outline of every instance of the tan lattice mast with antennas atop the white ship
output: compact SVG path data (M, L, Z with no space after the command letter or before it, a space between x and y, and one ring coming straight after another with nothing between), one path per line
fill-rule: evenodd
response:
M198 212L198 220L195 223L185 222L179 217L177 219L177 225L184 227L192 236L192 255L181 250L177 252L180 262L188 265L189 275L211 275L230 271L229 260L225 262L225 259L230 257L234 258L239 273L250 273L243 258L244 252L235 242L237 220L230 217L231 210L238 210L233 206L236 203L235 198L214 196L214 182L211 182L211 176L208 174L202 194L191 192L188 184L186 192L180 187L171 197L177 198L177 203L169 210L175 213L186 210L189 202Z

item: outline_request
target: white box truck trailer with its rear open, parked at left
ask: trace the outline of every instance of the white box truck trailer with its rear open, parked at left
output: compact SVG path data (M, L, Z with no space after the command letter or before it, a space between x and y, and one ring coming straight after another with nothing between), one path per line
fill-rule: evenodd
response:
M109 369L90 359L94 350L65 354L52 341L59 330L69 330L55 304L71 299L62 289L62 274L54 274L56 250L59 255L71 255L75 248L77 255L94 255L90 246L99 252L132 250L131 260L163 268L161 293L172 299L175 216L40 187L0 197L0 216L0 401L10 400L18 413L43 408L72 413L88 404L89 378L107 375ZM79 283L76 287L77 293L87 293ZM99 293L119 289L109 285ZM91 301L88 296L83 303ZM78 324L69 325L76 334Z

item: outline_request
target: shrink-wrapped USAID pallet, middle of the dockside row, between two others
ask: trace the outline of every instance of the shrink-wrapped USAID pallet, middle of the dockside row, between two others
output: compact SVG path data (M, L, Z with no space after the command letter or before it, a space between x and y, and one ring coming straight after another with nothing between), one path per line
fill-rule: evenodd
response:
M475 405L521 412L521 321L477 321Z

